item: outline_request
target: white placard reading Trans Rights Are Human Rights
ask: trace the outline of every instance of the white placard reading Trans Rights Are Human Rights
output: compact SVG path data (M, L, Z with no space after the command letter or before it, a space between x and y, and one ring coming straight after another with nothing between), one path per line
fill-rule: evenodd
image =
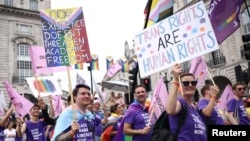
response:
M134 37L141 77L219 49L202 1Z

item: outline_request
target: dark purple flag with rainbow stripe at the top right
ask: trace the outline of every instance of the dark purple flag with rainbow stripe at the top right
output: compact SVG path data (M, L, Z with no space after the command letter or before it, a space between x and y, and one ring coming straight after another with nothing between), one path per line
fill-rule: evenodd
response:
M240 27L239 12L243 0L211 0L209 18L218 43Z

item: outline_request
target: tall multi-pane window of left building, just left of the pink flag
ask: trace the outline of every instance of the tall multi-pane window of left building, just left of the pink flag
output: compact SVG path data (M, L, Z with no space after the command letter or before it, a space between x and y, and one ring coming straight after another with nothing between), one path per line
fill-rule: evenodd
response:
M21 43L17 47L17 82L24 82L26 77L32 76L29 45Z

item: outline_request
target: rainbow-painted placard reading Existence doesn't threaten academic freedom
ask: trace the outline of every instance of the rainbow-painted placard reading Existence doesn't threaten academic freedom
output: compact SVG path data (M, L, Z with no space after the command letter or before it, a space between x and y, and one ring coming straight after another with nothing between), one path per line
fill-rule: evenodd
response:
M90 62L82 7L40 11L48 67Z

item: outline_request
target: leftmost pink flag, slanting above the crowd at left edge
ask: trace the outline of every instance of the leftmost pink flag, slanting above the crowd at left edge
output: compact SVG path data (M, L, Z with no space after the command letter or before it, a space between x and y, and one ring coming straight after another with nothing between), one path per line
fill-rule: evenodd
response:
M30 109L34 104L17 93L7 81L4 81L4 85L10 97L12 105L15 106L16 115L23 118L30 112Z

